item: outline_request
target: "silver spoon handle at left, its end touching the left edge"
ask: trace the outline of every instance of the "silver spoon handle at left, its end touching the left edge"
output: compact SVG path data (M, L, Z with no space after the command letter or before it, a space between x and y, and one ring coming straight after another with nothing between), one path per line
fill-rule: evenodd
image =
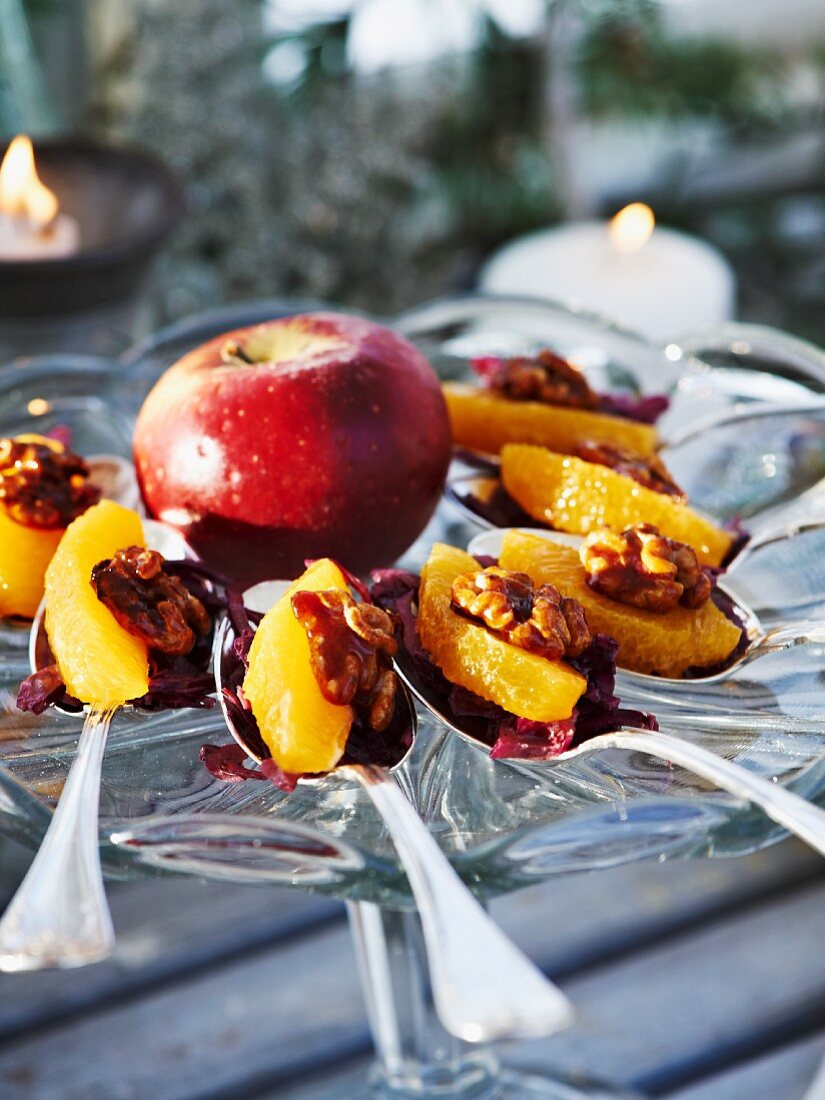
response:
M54 817L0 921L0 969L82 966L114 946L100 869L100 768L113 712L91 711Z

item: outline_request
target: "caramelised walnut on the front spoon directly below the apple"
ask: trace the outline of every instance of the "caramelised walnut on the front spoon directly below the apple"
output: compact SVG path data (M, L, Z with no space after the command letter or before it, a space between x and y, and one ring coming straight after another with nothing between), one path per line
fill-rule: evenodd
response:
M372 729L389 725L398 686L392 659L398 644L393 617L349 592L296 592L293 614L307 632L312 671L323 697L353 706Z

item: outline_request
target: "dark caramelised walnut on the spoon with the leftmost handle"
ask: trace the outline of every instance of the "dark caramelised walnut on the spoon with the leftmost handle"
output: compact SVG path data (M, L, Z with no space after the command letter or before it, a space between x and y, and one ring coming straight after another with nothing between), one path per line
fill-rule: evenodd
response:
M150 649L175 657L188 653L199 637L206 637L212 620L183 582L164 572L163 562L156 550L118 550L95 565L91 586L124 630Z

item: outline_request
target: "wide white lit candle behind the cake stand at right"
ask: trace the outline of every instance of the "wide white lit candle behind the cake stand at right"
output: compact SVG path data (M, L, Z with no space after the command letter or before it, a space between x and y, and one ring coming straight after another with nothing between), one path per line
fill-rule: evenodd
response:
M644 202L608 223L573 222L513 241L485 265L480 286L578 302L658 341L729 320L736 289L716 249L656 227Z

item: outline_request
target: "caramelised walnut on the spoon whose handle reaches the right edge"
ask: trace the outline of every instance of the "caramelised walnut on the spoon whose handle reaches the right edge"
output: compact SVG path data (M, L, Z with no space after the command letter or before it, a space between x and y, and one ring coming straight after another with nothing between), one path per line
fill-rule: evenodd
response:
M527 573L495 565L462 573L452 583L452 606L509 645L548 660L579 657L593 640L582 605L560 596L552 584L537 588Z

